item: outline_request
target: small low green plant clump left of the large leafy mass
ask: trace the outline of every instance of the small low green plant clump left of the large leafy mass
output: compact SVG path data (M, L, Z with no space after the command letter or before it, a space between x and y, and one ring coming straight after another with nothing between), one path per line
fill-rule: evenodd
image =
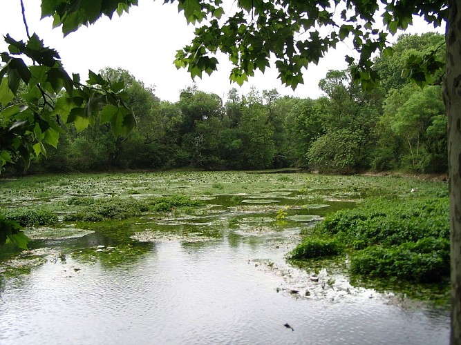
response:
M288 259L302 260L338 255L343 249L336 239L307 237L290 252Z

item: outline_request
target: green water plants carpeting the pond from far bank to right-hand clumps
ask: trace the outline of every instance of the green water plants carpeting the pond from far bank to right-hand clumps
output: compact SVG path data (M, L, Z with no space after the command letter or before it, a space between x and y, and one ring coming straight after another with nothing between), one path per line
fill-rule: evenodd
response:
M362 280L373 276L394 284L405 279L405 272L415 271L413 275L417 277L411 278L413 281L439 275L417 273L410 266L402 266L399 268L402 273L388 273L383 279L382 272L388 272L387 268L377 268L371 263L397 267L405 258L410 258L416 265L416 258L422 257L424 265L432 270L441 267L440 272L445 272L446 267L438 266L438 259L422 252L420 246L424 242L415 245L428 234L434 243L440 246L444 243L437 242L444 238L442 233L448 231L448 221L440 212L445 207L448 190L444 181L413 177L175 171L0 179L0 190L3 210L44 209L60 215L57 224L28 230L35 239L69 238L74 231L75 236L79 236L84 234L80 229L89 229L88 232L94 233L66 241L78 242L82 247L94 246L94 243L136 246L139 240L159 239L212 246L216 240L225 238L231 246L245 243L256 247L267 236L271 241L290 237L290 246L283 247L286 253L299 240L302 228L304 236L317 239L315 236L321 233L328 235L321 237L323 240L332 238L344 244L350 253L348 262L352 262L346 267L344 255L303 259L310 262L310 266L318 262L321 268L326 261L335 261L339 262L341 273L350 268L353 276ZM46 197L41 197L44 195ZM340 212L333 215L337 210ZM401 216L393 215L392 210ZM312 224L321 217L326 221L314 230ZM59 243L64 245L64 242ZM32 246L37 243L40 242L32 242ZM399 247L401 244L404 247ZM377 249L364 251L374 246ZM393 246L395 253L391 253ZM108 264L117 256L115 251L110 254L111 250L101 253L95 250L88 250L88 257L96 260L104 257ZM391 252L384 253L384 250ZM132 250L120 250L120 258L123 251ZM407 255L398 256L398 251L405 251ZM440 250L437 254L442 262L444 253ZM389 255L395 256L397 264L391 263ZM373 268L379 270L379 274L375 274Z

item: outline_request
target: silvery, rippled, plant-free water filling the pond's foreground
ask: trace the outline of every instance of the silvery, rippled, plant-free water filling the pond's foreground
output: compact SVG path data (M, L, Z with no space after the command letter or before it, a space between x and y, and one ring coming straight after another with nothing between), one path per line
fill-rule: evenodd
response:
M142 259L111 267L50 260L5 285L0 343L448 343L445 311L402 308L365 289L335 301L277 293L287 277L255 260L275 257L274 266L302 272L284 262L286 248L275 243L282 247L162 242Z

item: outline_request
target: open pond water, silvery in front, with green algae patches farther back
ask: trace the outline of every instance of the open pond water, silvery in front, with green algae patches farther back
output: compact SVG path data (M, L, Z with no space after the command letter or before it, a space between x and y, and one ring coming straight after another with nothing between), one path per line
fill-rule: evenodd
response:
M446 306L352 286L347 258L312 270L286 262L301 228L354 204L342 187L301 202L287 185L215 186L195 214L37 239L0 266L0 344L449 343ZM18 266L30 267L12 274Z

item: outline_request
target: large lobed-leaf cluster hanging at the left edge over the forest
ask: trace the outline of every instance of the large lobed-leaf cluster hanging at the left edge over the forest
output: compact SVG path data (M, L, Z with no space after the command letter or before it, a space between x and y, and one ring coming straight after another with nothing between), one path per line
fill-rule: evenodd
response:
M28 41L5 37L8 52L0 63L0 168L21 157L26 168L30 153L47 155L46 144L56 148L65 124L78 132L96 123L109 123L114 137L135 127L122 81L106 81L90 71L86 84L70 77L58 53L37 34ZM27 66L26 59L33 66Z

